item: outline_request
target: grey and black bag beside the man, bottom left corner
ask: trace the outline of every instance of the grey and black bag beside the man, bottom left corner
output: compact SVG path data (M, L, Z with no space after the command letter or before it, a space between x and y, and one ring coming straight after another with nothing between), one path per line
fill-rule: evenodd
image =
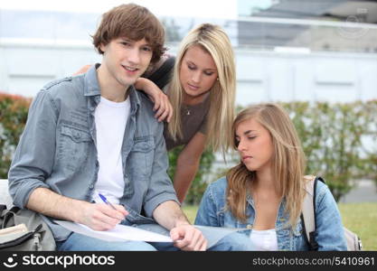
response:
M6 210L5 205L0 205L0 250L42 251L55 248L52 231L39 213L15 206Z

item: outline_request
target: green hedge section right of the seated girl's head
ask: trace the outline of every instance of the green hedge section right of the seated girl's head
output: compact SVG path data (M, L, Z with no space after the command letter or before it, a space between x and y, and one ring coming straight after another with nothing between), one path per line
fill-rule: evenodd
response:
M322 175L335 200L360 178L376 179L376 101L349 104L283 103L301 138L308 174ZM372 137L374 140L371 141ZM369 139L363 142L363 139ZM374 148L374 150L371 149Z

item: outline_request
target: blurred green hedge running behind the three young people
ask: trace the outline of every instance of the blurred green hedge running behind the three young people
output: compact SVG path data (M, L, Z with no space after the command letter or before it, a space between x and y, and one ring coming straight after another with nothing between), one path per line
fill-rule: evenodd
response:
M0 178L7 178L31 99L0 93ZM326 102L281 103L292 117L307 157L308 174L325 177L339 200L353 187L353 181L372 179L377 184L377 101L330 104ZM241 109L241 108L240 108ZM169 153L169 175L173 178L180 148ZM237 154L232 155L234 161ZM214 154L206 150L201 167L186 197L197 204L209 181L228 168L211 173ZM231 164L228 166L230 167Z

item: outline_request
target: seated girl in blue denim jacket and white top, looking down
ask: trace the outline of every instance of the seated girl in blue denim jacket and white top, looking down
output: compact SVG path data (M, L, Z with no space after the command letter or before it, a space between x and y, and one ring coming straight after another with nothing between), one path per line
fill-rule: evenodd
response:
M249 107L231 134L240 164L212 182L195 224L251 229L255 250L308 250L300 214L306 195L306 163L295 126L282 107ZM328 187L316 185L318 250L346 250L339 210Z

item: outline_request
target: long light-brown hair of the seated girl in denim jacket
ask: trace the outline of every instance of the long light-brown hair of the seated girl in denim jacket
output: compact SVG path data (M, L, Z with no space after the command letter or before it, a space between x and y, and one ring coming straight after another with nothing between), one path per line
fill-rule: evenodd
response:
M286 199L286 211L289 224L293 227L301 213L305 196L304 173L306 158L302 150L297 131L287 112L277 104L260 104L240 112L235 118L231 133L233 147L237 149L236 130L241 122L255 119L271 135L274 154L272 154L272 171L277 180L278 191ZM255 180L255 172L250 172L245 164L231 168L227 173L227 207L239 220L247 219L246 198L250 191L250 182Z

